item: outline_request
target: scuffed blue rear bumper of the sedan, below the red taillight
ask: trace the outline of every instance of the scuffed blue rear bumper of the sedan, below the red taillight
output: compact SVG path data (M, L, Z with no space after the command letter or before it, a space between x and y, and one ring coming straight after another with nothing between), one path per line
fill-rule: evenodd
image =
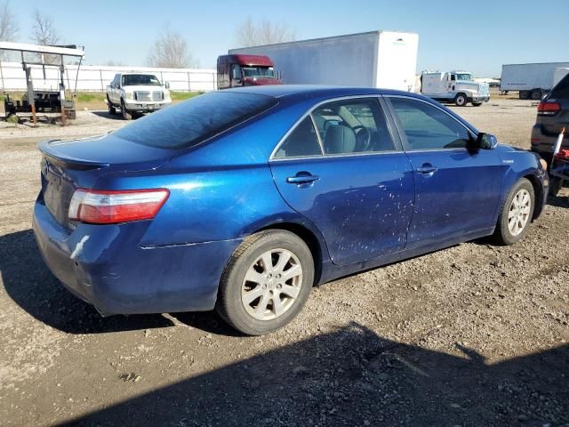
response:
M68 231L38 197L33 229L44 262L101 315L212 310L222 271L241 239L139 246L148 222L79 224Z

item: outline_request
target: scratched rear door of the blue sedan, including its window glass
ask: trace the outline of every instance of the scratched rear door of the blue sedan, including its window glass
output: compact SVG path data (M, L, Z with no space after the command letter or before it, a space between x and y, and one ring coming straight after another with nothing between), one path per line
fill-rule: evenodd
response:
M405 247L413 170L376 97L318 106L285 135L270 167L284 200L322 232L334 263Z

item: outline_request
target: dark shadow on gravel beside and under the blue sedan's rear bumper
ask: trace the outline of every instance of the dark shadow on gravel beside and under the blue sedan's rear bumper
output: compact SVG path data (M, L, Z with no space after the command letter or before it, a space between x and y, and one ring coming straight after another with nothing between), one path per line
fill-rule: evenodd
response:
M70 294L42 260L32 230L0 237L0 278L6 293L31 316L68 334L173 326L162 315L102 318L92 305Z

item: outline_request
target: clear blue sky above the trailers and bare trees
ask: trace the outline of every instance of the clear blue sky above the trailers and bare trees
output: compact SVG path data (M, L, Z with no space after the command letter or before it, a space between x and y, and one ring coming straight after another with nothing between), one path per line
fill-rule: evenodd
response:
M569 0L19 0L18 41L29 42L30 15L50 14L65 43L84 44L87 64L145 65L164 24L186 37L194 57L212 68L236 47L235 30L252 20L284 22L298 39L390 29L419 34L418 71L468 69L499 77L501 65L569 61Z

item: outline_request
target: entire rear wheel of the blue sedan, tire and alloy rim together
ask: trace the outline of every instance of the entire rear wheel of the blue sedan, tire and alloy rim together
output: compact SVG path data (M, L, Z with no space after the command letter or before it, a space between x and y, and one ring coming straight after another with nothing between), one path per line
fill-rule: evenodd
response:
M313 285L309 246L290 231L260 231L246 238L229 259L215 310L243 334L268 334L298 315Z

